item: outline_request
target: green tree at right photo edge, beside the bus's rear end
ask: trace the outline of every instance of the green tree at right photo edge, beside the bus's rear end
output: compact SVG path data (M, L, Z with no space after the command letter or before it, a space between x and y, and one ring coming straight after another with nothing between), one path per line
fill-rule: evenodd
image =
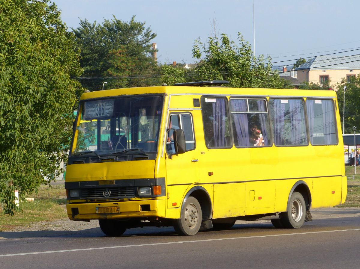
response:
M339 104L339 114L341 120L343 119L343 102L344 102L344 86L345 90L345 133L354 133L352 129L357 127L357 132L360 131L360 74L350 77L348 81L342 78L341 82L336 85L339 90L336 92ZM342 126L342 125L341 125Z

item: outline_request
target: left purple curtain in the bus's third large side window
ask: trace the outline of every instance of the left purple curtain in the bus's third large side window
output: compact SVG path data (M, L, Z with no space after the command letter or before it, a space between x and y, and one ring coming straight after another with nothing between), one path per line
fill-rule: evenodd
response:
M275 145L283 145L284 136L284 119L285 119L285 104L281 103L280 99L270 99L272 101L272 118L273 118L273 132Z

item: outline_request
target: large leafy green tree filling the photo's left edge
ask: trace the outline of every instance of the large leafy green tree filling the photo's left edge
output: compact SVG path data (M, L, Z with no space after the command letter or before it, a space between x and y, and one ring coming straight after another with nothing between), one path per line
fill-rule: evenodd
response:
M49 0L0 0L0 202L59 175L82 72L72 33Z

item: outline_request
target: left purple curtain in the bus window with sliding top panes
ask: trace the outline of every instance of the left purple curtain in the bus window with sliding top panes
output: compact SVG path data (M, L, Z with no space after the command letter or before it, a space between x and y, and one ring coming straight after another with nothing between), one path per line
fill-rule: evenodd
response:
M233 99L230 102L231 111L247 111L247 102L243 99ZM238 145L240 147L250 146L249 141L249 124L247 114L232 113L233 123L236 130Z

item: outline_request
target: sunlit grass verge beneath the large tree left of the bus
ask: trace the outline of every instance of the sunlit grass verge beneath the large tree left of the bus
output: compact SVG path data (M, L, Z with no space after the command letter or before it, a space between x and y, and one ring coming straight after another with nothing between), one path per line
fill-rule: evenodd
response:
M44 220L52 221L67 218L65 204L66 191L64 186L40 186L37 193L26 196L35 201L21 201L22 212L15 212L14 216L0 215L0 231L6 231L14 226L27 226L32 222Z

